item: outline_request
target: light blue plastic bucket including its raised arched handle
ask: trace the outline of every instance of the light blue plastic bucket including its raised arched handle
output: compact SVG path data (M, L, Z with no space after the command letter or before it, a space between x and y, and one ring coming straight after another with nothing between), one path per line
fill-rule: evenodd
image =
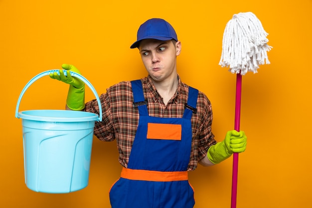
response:
M18 112L19 103L27 88L37 79L58 69L33 77L19 95L15 117L22 119L24 174L26 186L35 192L69 193L88 185L96 121L102 121L100 99L90 82L72 71L92 90L99 105L97 114L71 110L28 110Z

